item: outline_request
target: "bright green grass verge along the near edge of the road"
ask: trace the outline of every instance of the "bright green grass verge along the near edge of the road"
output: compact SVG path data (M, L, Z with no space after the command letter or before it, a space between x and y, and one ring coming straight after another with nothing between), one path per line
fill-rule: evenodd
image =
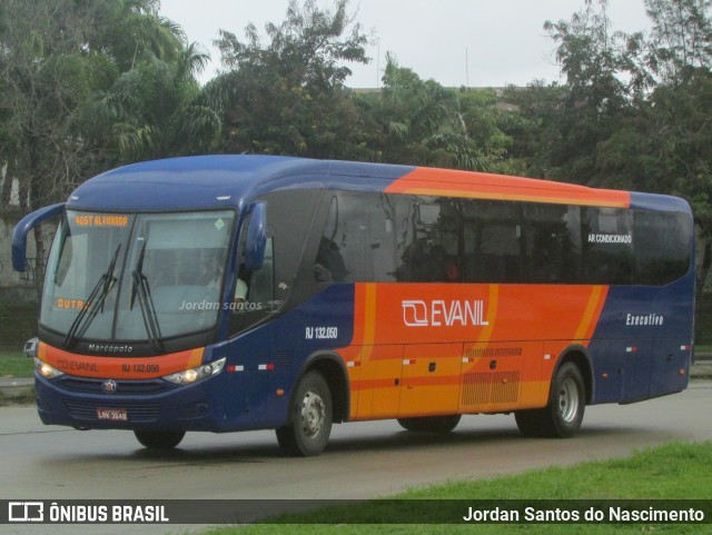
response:
M552 443L553 445L555 443ZM473 452L476 455L476 452ZM517 476L490 480L451 482L427 488L412 489L393 496L397 507L406 507L408 518L423 518L427 509L437 515L453 507L451 521L458 522L467 512L464 503L493 499L504 504L508 499L525 503L553 501L565 507L565 499L712 499L710 485L712 442L703 444L672 443L657 448L635 453L624 459L582 463L566 468L548 468L527 472ZM258 524L238 527L212 528L204 535L256 534L451 534L477 535L568 535L568 534L706 534L710 525L683 524L379 524L389 518L394 502L372 501L355 505L335 506L314 513L289 515L280 518L285 524ZM404 504L405 501L405 504ZM408 501L413 503L409 504ZM426 501L426 502L423 502ZM436 501L436 502L431 502ZM439 501L439 502L437 502ZM448 502L467 501L467 502ZM441 505L442 504L442 505ZM556 505L554 505L555 507ZM647 505L645 505L646 507ZM710 508L705 513L709 519ZM682 507L681 507L682 508ZM392 516L390 516L392 518ZM431 516L431 518L433 518ZM453 519L454 518L454 519ZM369 524L370 522L370 524Z

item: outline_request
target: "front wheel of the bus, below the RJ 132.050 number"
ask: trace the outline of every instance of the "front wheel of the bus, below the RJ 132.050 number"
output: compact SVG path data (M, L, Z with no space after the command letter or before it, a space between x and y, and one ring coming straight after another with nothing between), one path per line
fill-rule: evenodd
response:
M308 371L299 382L290 423L277 429L277 442L288 455L313 457L324 452L332 433L334 405L324 376Z

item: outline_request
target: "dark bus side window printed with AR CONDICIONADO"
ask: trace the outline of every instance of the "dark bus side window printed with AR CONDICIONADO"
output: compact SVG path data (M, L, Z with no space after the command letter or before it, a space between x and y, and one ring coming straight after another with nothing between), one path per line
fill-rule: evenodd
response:
M583 281L595 285L633 283L633 225L631 210L584 208Z

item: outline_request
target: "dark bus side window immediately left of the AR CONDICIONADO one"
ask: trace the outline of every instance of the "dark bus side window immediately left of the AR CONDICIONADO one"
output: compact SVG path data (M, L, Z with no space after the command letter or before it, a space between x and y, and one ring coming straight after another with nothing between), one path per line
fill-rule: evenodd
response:
M530 283L581 280L580 209L565 205L524 205L526 271Z

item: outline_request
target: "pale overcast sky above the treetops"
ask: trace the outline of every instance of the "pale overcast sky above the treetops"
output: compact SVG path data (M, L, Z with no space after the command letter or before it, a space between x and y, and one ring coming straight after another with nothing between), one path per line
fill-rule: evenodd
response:
M221 68L212 41L220 29L245 40L254 22L263 36L266 22L279 24L288 0L161 0L161 14L180 24L189 42L202 44L211 61L205 83ZM332 8L330 0L318 6ZM372 61L352 63L352 88L380 87L386 52L400 67L446 87L525 86L533 80L564 81L555 63L555 43L543 26L570 20L584 0L350 0L349 9L374 43ZM609 0L613 30L650 29L643 0Z

